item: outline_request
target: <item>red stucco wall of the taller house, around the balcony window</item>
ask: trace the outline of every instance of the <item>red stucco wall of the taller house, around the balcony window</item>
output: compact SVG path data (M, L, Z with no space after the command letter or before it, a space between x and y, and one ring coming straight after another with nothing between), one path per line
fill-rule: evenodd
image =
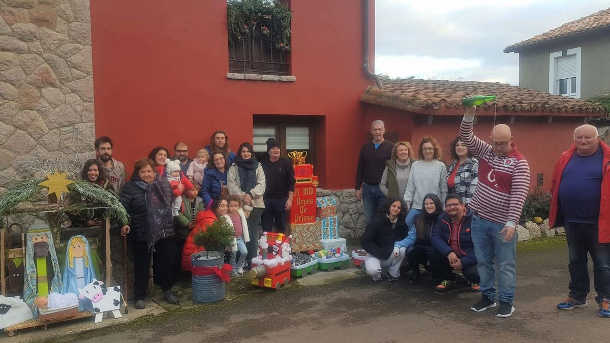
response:
M291 8L296 82L238 81L226 78L226 0L92 1L96 135L114 140L115 157L131 171L157 145L184 140L193 155L216 129L234 149L252 142L256 114L324 116L315 173L323 187L353 187L354 146L367 131L359 98L372 83L362 73L362 2Z

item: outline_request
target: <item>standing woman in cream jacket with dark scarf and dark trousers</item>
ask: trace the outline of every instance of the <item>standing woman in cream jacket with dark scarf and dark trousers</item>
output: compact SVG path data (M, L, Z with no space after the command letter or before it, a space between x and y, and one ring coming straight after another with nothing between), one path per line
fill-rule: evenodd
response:
M248 266L256 256L256 245L259 241L260 216L265 209L263 193L265 193L265 172L254 156L252 145L242 143L237 150L235 162L229 167L227 186L229 194L237 194L243 199L243 211L246 214L250 241L248 242ZM249 213L249 214L248 214Z

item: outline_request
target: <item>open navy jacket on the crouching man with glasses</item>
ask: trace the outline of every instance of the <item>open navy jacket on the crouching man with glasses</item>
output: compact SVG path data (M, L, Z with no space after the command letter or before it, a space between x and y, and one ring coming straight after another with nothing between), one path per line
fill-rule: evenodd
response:
M465 256L459 258L462 261L462 269L466 269L476 264L475 245L472 243L472 215L473 211L468 210L458 228L458 247ZM439 253L447 256L453 252L449 239L451 237L451 217L444 212L439 216L436 225L432 228L430 243Z

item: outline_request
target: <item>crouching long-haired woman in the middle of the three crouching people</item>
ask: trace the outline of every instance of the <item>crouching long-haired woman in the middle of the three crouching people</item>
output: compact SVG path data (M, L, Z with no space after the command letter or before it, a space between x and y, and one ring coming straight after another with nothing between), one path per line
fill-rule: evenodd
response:
M419 269L420 264L426 270L430 269L427 255L428 248L430 247L430 234L439 215L443 213L443 204L434 193L426 194L423 198L422 208L424 211L415 216L415 225L409 229L409 233L415 233L415 243L407 248L406 251L407 262L409 262L409 266L413 270L413 275L407 280L409 284L416 284L422 281L422 274Z

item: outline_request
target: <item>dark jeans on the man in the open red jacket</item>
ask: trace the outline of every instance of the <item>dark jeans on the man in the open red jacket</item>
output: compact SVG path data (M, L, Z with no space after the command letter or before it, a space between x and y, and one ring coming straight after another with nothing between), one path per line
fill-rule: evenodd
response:
M595 301L610 299L610 244L600 244L597 224L565 223L565 237L570 251L570 298L584 301L589 293L588 252L593 261Z

